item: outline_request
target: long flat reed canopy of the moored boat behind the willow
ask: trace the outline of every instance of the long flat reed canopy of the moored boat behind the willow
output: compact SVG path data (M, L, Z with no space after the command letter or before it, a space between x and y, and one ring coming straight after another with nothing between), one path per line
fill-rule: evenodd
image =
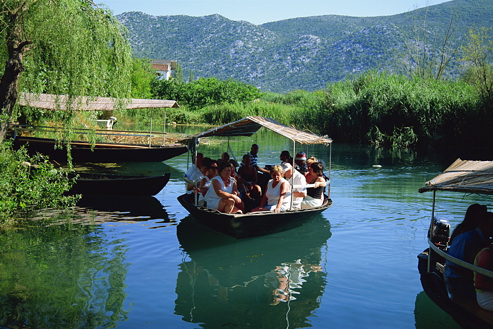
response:
M127 103L128 101L128 103ZM17 103L24 106L44 108L49 110L67 110L69 97L67 95L19 93ZM110 97L74 97L70 108L77 111L110 111L131 108L179 107L176 100L163 99L114 99Z

